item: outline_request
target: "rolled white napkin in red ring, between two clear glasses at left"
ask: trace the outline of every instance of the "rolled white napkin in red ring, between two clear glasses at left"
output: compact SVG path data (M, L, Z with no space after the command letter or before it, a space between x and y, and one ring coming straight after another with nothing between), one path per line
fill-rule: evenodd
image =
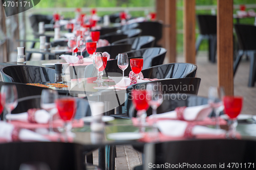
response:
M47 124L50 117L50 114L46 110L39 109L29 109L28 112L6 115L8 120L19 120L38 124Z

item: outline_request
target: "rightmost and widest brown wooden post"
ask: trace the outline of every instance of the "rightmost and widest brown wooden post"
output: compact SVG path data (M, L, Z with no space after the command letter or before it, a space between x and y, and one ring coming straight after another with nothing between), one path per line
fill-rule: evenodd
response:
M217 11L218 85L233 95L233 0L218 0Z

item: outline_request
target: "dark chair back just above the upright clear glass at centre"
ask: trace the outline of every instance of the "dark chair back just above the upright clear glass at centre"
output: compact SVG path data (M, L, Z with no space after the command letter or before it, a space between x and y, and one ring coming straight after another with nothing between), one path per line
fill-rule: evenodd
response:
M115 59L119 53L131 51L132 45L130 44L116 44L110 46L102 46L98 47L96 52L108 52L110 54L111 59Z

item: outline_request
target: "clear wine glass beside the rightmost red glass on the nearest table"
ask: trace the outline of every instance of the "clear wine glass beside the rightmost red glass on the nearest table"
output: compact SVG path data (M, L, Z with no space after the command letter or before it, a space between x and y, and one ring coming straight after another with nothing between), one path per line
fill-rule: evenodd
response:
M216 129L220 129L220 112L223 110L223 96L225 95L223 87L210 86L208 90L208 104L216 115Z

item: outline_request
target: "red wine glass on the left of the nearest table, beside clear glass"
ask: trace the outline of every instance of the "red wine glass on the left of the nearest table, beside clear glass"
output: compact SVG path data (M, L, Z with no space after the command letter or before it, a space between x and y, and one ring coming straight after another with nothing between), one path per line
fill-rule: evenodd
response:
M64 130L66 141L68 141L68 133L70 133L71 120L76 112L76 100L74 98L59 98L55 101L58 109L59 117L65 122Z

